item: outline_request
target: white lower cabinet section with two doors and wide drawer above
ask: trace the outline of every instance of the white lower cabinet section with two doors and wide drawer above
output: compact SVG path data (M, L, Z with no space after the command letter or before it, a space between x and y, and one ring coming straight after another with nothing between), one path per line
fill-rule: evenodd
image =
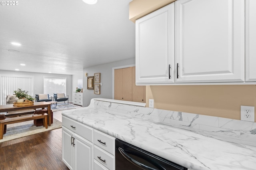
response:
M62 160L70 170L93 169L93 129L62 117Z

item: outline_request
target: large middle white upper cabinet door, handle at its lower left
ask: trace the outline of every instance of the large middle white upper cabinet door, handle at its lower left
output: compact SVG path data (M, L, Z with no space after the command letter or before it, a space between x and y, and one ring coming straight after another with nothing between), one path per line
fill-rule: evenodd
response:
M176 82L244 81L244 0L175 5Z

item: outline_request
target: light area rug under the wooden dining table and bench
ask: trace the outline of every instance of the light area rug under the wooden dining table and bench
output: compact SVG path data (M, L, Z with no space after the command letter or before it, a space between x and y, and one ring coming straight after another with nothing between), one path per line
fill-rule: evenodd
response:
M62 123L54 118L53 118L53 123L51 124L51 126L48 126L47 129L43 126L36 127L34 125L33 120L10 124L10 125L7 125L6 134L4 134L3 139L0 139L0 143L8 140L16 139L16 138L21 138L24 136L29 136L31 134L36 134L36 133L45 132L48 130L53 130L56 128L61 128L61 127L62 127Z

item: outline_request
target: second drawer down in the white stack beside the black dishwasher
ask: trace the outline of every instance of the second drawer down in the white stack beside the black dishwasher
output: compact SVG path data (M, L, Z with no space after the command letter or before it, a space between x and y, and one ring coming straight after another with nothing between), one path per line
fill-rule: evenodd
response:
M115 169L115 157L94 145L94 160L106 166L110 170Z

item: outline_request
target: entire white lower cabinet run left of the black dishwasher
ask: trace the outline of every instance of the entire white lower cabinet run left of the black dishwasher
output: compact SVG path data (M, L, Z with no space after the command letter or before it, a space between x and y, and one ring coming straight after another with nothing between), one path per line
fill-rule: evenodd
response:
M62 116L62 160L70 170L115 170L115 138Z

